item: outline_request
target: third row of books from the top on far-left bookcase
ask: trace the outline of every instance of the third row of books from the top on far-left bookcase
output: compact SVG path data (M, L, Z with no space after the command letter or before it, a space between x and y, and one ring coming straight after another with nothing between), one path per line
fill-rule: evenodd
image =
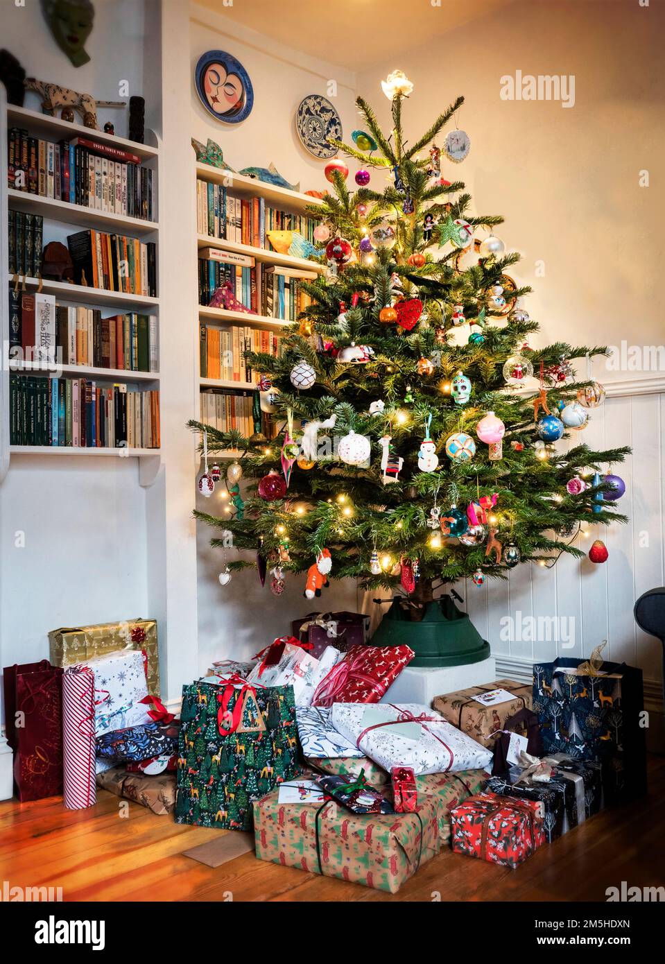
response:
M10 357L156 372L157 318L135 311L102 318L98 308L59 305L11 284Z

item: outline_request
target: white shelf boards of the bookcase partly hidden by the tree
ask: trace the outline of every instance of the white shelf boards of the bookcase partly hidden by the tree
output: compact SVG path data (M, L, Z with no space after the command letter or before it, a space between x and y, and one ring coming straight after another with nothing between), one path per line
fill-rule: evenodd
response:
M302 194L298 191L291 191L287 188L278 187L274 184L267 184L264 181L256 180L244 174L234 174L230 171L221 170L208 164L197 162L196 181L204 181L208 184L218 184L226 188L229 195L238 197L242 200L262 198L267 206L275 207L289 214L313 216L306 208L310 205L320 206L322 201L310 195ZM257 248L249 244L241 244L238 241L230 241L226 238L212 237L207 234L197 234L197 250L200 252L205 248L214 248L233 254L243 254L254 259L257 264L269 267L271 265L283 268L290 268L298 271L316 271L323 273L327 270L326 264L317 264L308 261L306 258L295 257L291 254L280 254L272 251L266 242L266 248ZM260 292L259 292L260 301ZM228 310L226 308L209 308L199 304L199 293L197 292L197 312L199 325L197 326L196 358L200 359L200 326L208 328L221 328L241 326L243 328L253 328L259 330L279 332L279 329L290 325L291 322L281 318L273 318L263 314L250 314L244 311ZM198 362L199 364L199 362ZM256 386L252 382L230 381L227 379L214 379L201 377L198 370L199 391L210 388L223 389L226 392L247 393L253 391ZM200 418L200 411L196 417ZM215 453L217 458L235 459L242 453L235 449L226 452Z

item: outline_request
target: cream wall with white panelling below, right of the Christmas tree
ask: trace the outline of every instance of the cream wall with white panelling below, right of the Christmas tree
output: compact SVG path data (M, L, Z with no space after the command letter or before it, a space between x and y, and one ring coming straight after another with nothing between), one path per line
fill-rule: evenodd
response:
M657 5L519 2L446 35L436 55L431 47L413 50L359 75L359 94L387 123L389 104L379 82L395 67L407 73L415 85L403 111L412 140L464 94L459 126L471 150L461 165L443 158L442 171L449 180L465 181L474 212L505 216L496 233L523 257L509 273L535 289L525 307L542 327L530 339L536 347L554 340L663 342L662 305L654 291L660 249L653 241L662 233L665 145L656 72L664 27ZM574 74L574 107L502 100L500 78L518 69ZM650 188L638 186L643 170L650 173ZM545 277L537 277L539 260ZM603 360L595 365L597 377L606 384L616 380L617 388L631 379L665 387L665 371L607 371ZM582 365L582 377L584 371ZM646 678L660 680L660 644L636 628L632 607L642 592L665 583L664 414L662 394L612 397L583 434L583 441L601 448L627 444L634 450L617 468L627 490L621 508L630 521L600 533L610 553L604 566L562 557L551 570L519 566L508 582L477 588L467 580L460 588L499 665L517 672L519 660L557 653L551 641L501 638L502 618L520 611L574 619L574 647L559 647L559 655L588 656L607 638L609 658L625 659L643 667ZM657 694L658 684L649 688Z

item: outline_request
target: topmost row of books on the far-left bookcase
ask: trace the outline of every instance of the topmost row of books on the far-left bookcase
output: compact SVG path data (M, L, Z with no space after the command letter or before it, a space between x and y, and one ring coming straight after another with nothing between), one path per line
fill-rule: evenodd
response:
M9 186L17 191L153 220L152 171L130 151L84 137L54 144L13 127L8 152Z

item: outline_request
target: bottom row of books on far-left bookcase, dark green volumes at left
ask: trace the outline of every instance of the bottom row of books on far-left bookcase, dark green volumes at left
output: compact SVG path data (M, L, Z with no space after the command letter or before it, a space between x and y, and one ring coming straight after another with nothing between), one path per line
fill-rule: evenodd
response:
M159 448L159 392L84 378L10 374L10 442Z

